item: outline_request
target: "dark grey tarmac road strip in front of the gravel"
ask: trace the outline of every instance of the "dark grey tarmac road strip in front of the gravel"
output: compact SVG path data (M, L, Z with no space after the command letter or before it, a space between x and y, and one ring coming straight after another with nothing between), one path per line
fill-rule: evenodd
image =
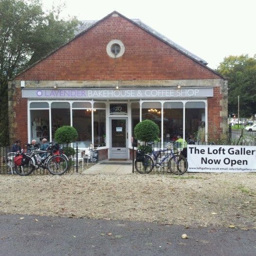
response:
M181 238L184 233L188 239ZM1 215L0 255L253 256L256 229Z

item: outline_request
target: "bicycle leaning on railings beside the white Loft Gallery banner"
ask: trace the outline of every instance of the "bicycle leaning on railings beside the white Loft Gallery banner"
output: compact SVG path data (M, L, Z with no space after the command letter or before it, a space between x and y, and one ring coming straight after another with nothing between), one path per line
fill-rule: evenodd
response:
M164 156L161 156L162 154L164 154ZM137 152L134 165L138 173L149 174L153 170L154 166L164 167L165 160L168 158L170 158L168 160L168 168L173 174L180 175L187 171L187 159L183 155L174 153L174 143L171 142L167 143L166 149L153 150L151 154Z

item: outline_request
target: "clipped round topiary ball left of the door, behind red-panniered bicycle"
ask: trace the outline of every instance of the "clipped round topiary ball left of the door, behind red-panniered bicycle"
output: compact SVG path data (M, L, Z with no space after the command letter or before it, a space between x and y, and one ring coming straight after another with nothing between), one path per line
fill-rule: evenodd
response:
M64 125L55 131L54 139L57 143L71 143L78 138L78 133L72 126Z

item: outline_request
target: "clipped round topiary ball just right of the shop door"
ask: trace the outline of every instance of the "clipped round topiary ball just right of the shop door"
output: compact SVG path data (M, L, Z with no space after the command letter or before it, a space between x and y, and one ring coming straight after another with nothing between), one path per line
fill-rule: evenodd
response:
M139 122L134 128L135 138L144 142L157 140L159 133L158 125L148 119Z

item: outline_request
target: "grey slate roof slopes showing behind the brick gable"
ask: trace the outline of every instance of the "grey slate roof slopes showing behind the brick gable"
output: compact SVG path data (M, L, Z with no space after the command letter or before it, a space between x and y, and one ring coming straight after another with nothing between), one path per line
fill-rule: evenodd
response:
M94 26L99 20L82 20L81 24L77 27L77 30L75 31L75 35L79 35L80 33L89 30L91 27ZM135 23L138 27L141 27L146 32L150 33L151 35L157 37L161 41L164 41L168 45L174 47L176 50L182 52L185 55L190 56L191 58L197 60L201 64L207 65L208 63L201 59L200 57L192 54L190 51L184 49L182 46L179 46L174 41L170 40L169 38L165 37L164 35L160 34L159 32L155 31L152 27L147 26L145 23L143 23L140 19L130 19L133 23Z

